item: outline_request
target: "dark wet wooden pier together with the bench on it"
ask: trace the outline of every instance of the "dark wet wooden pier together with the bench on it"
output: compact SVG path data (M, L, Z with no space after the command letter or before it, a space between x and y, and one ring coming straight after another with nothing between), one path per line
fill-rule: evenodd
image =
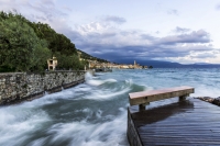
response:
M130 145L220 145L219 106L187 98L193 92L191 87L179 87L130 93ZM179 101L144 110L150 102L174 97Z

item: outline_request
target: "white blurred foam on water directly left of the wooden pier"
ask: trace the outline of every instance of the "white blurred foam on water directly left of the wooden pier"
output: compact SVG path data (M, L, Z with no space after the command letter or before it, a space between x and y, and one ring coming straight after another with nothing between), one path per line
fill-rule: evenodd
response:
M128 145L125 139L127 110L120 109L121 114L105 123L88 123L86 121L59 123L48 131L53 135L52 143L70 141L69 146L119 146ZM100 113L100 111L98 111ZM99 119L103 117L101 114Z

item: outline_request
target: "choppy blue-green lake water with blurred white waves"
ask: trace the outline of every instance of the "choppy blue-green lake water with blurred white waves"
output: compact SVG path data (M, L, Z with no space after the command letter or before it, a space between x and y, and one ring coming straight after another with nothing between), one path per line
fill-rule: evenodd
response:
M191 97L220 96L219 68L113 70L86 78L62 92L0 108L0 146L127 146L129 92L191 86Z

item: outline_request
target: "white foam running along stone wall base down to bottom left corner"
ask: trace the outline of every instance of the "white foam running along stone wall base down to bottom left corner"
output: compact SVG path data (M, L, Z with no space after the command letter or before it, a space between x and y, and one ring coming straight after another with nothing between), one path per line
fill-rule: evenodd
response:
M41 128L42 123L51 121L47 113L41 110L42 105L58 102L58 99L70 99L76 92L91 90L87 85L63 90L31 102L0 108L0 145L18 146L29 138L29 133ZM99 114L97 114L99 116ZM36 139L30 145L40 145L44 138Z

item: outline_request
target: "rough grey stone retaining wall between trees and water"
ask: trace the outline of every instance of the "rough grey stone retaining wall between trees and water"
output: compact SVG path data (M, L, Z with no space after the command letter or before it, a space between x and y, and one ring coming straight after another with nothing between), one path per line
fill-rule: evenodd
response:
M44 75L0 74L0 104L40 98L84 82L85 71L47 71Z

